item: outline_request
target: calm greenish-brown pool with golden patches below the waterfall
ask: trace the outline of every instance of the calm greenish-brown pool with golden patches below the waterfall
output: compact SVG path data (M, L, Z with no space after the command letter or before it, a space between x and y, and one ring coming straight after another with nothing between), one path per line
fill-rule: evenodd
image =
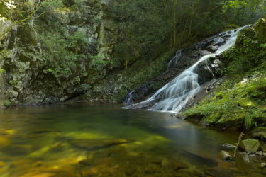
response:
M266 175L255 165L218 159L221 144L235 144L238 132L119 107L0 110L0 177Z

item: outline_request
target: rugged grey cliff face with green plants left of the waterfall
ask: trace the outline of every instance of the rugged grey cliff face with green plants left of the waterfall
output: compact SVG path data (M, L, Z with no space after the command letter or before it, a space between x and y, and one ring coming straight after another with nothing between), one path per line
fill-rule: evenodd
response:
M127 64L145 55L138 43L123 37L121 22L109 16L112 3L65 1L60 12L42 14L48 7L41 6L35 14L39 18L1 24L1 33L11 30L0 39L0 105L50 104L86 93L114 69L123 69L117 62L123 56L113 55L118 43L134 49ZM159 51L154 53L149 57Z

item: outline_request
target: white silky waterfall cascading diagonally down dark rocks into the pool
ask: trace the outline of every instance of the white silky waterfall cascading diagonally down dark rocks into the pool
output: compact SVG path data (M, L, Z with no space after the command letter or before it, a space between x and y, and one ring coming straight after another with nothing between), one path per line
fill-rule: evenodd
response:
M247 28L247 26L244 26L243 28ZM212 78L214 79L214 74L206 61L211 57L220 55L222 52L232 47L235 44L239 31L243 28L227 32L226 35L228 35L228 40L226 40L226 43L220 47L216 46L216 52L201 57L195 64L192 65L192 67L184 70L184 72L159 89L153 96L145 101L128 105L124 108L149 108L150 110L170 111L176 113L180 112L187 102L190 99L193 99L196 93L198 93L201 89L199 82L199 77L201 77L199 76L199 71L201 69L199 66L204 64L206 69L209 70L208 73L212 74ZM171 69L172 66L176 65L181 57L182 50L179 50L174 58L169 62L168 69Z

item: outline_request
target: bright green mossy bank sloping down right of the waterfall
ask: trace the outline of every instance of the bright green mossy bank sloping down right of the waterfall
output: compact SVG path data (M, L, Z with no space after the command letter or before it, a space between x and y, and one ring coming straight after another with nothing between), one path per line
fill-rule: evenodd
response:
M183 115L202 124L250 129L266 122L266 23L261 18L238 35L222 56L226 76L215 91Z

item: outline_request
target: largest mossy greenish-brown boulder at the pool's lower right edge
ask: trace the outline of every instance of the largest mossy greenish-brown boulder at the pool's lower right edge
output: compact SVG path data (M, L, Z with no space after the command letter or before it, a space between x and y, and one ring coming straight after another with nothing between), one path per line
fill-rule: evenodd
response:
M260 147L260 142L257 139L245 139L240 142L239 147L240 150L245 151L249 154L257 152Z

